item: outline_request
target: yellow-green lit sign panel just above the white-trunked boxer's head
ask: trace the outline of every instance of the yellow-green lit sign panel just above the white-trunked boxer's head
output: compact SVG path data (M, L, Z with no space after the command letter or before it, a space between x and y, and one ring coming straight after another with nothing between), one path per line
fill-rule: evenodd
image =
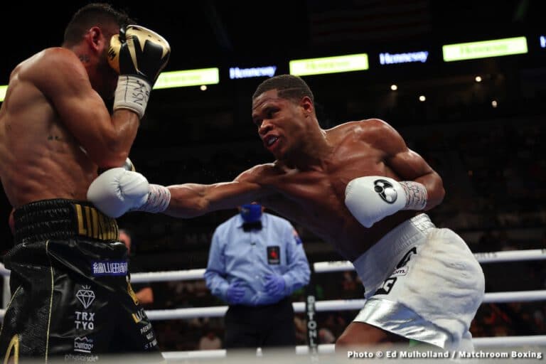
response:
M336 57L291 60L290 74L298 76L323 75L368 70L368 54L338 55Z

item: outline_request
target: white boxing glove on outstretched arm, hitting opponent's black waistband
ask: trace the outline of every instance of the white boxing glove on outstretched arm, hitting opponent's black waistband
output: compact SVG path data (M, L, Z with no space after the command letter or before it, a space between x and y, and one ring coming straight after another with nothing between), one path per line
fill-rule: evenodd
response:
M87 200L109 217L119 218L129 210L164 211L171 200L171 193L164 186L148 183L141 173L111 168L91 183Z

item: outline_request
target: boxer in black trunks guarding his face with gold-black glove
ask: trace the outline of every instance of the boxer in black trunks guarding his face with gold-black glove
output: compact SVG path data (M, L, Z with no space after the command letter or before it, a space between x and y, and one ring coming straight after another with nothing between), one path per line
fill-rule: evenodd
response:
M87 4L60 47L11 73L0 109L0 178L15 209L4 363L146 351L163 360L129 284L116 221L86 201L97 171L127 160L170 55L164 38L133 23L109 4Z

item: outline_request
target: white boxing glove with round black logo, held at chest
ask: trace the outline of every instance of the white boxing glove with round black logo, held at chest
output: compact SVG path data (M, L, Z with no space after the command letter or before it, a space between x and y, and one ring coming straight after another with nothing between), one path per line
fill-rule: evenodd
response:
M427 188L382 176L355 178L345 189L345 205L356 220L371 228L400 210L422 210L427 205Z

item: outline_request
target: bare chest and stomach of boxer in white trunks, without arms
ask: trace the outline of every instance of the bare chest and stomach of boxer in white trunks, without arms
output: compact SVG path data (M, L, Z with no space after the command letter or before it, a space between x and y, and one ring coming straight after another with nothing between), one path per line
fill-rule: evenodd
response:
M250 176L243 177L256 178L255 181L267 191L273 191L261 200L267 208L333 243L338 252L350 260L359 257L386 232L416 213L401 211L368 229L346 208L345 188L353 178L388 176L400 179L385 164L385 153L365 141L373 137L365 123L350 122L328 130L326 139L336 147L320 166L299 169L277 161L257 166Z

